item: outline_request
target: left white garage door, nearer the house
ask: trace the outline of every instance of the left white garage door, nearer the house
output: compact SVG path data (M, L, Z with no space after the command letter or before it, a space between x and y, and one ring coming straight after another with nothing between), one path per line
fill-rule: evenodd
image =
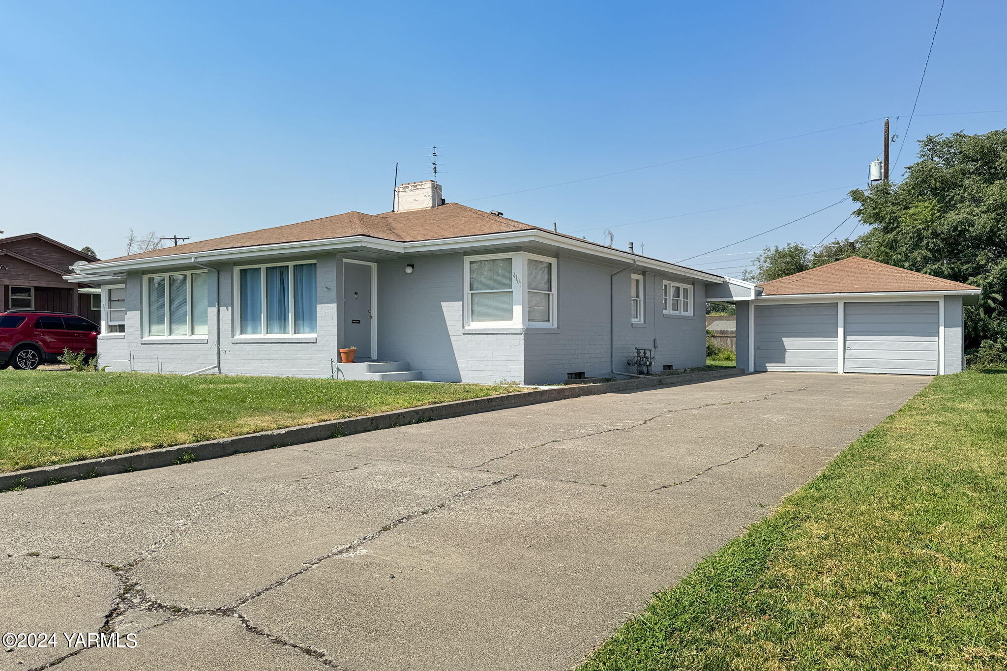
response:
M755 370L838 370L839 305L755 306Z

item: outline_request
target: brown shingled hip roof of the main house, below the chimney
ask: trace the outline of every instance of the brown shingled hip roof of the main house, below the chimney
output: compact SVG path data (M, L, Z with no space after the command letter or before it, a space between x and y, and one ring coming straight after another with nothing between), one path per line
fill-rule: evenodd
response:
M512 230L535 229L545 230L544 228L539 228L539 226L489 214L488 212L459 205L458 203L447 203L440 207L416 209L406 212L385 212L383 214L345 212L343 214L336 214L335 216L326 216L320 219L301 221L300 223L290 223L285 226L261 228L247 233L225 235L224 237L186 242L176 246L152 249L128 257L108 259L102 263L132 259L152 259L155 257L211 251L214 249L232 249L259 244L321 240L332 237L348 237L351 235L370 235L387 240L411 242L416 240L434 240L444 237L485 235L487 233L502 233Z

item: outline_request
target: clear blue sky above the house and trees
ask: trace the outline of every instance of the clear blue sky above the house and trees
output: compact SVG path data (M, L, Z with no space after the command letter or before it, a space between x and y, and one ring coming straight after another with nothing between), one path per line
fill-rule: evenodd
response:
M130 227L381 212L396 161L427 179L438 145L449 201L684 259L863 184L882 122L858 122L905 129L939 6L0 0L0 228L110 258ZM917 115L1007 110L1004 24L1007 4L948 1ZM911 136L1004 127L917 116ZM851 210L688 265L738 275Z

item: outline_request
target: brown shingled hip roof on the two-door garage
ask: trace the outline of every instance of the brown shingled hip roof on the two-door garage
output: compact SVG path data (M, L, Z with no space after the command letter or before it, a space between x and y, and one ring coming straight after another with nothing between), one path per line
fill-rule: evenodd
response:
M756 286L762 288L762 296L977 289L961 282L936 278L932 275L923 275L860 257L850 257L828 266L820 266Z

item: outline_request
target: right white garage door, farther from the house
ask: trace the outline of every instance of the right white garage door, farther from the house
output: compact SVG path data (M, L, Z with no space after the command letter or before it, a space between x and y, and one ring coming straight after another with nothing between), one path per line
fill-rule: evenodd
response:
M847 303L848 373L938 374L938 304Z

